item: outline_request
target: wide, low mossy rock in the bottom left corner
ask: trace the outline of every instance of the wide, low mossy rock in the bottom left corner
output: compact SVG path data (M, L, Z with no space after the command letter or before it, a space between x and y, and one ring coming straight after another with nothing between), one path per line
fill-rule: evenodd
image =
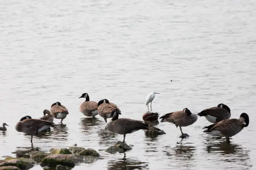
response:
M32 168L34 165L32 163L19 160L18 158L6 158L5 162L0 163L0 167L3 167L3 166L16 166L21 170L28 170Z

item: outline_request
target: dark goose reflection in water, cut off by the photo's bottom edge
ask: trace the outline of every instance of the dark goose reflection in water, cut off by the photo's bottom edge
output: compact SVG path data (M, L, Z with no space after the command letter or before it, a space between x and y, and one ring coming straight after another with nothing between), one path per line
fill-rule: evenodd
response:
M108 161L108 170L146 170L148 169L148 163L141 162L136 158L126 158L118 160L110 160Z

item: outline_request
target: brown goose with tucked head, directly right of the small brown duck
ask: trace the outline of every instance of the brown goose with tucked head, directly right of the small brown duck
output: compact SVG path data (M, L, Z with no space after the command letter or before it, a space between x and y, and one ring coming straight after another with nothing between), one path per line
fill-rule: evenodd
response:
M55 102L51 105L51 115L56 119L65 119L69 114L67 108L64 105L61 105L60 102Z

